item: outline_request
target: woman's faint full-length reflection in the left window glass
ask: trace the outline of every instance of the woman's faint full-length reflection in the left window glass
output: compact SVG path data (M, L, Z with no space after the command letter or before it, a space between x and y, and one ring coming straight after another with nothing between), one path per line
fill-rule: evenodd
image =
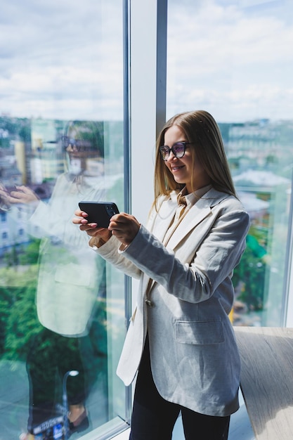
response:
M17 186L11 193L0 188L10 215L18 219L21 209L22 219L27 214L28 231L41 237L36 292L41 325L32 332L27 355L30 413L22 440L37 439L34 434L43 427L53 430L52 420L62 414L62 382L70 370L77 370L78 375L66 381L67 436L88 429L86 399L98 377L104 380L106 371L107 335L100 325L105 313L105 261L98 255L93 258L86 236L71 221L79 200L105 199L103 127L73 121L65 134L62 148L68 170L58 176L48 202L39 200L27 186ZM94 173L89 163L95 164ZM88 365L95 365L96 374Z

